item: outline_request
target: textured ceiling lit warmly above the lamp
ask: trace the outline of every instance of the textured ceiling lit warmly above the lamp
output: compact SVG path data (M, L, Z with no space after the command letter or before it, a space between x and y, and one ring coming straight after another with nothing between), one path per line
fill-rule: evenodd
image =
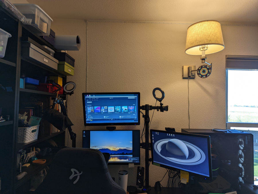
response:
M258 24L257 0L28 0L52 19Z

